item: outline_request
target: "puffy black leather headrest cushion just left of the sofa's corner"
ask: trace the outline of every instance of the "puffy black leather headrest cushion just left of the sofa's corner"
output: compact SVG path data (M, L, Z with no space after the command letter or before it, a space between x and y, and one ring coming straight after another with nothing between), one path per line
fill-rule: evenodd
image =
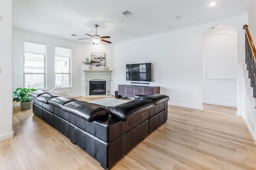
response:
M74 101L64 104L63 111L72 113L88 122L108 117L108 110L100 105L91 104L84 101Z

